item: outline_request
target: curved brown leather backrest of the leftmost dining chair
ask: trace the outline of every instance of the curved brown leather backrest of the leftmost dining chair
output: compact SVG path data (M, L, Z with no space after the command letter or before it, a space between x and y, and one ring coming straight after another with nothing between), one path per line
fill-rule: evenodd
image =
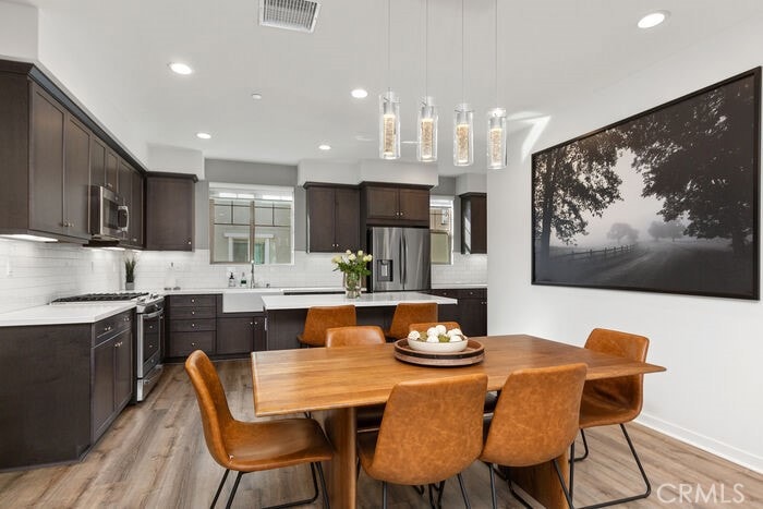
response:
M201 350L192 352L185 360L185 373L196 392L207 449L215 461L228 468L230 458L226 450L223 429L233 421L233 416L220 377L209 357Z

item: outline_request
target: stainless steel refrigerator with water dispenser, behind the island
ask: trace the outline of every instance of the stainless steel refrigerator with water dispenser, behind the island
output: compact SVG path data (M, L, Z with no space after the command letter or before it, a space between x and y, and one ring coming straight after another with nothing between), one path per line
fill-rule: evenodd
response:
M368 229L372 292L429 290L429 229Z

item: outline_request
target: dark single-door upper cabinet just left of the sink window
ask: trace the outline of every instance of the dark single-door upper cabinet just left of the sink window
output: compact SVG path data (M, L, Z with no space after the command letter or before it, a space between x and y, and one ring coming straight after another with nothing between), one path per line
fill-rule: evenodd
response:
M148 173L146 178L146 249L193 251L196 175Z

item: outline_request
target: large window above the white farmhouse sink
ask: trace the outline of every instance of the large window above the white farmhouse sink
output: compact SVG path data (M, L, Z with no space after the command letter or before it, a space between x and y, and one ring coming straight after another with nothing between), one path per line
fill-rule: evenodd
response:
M213 264L292 264L294 190L210 183L209 257Z

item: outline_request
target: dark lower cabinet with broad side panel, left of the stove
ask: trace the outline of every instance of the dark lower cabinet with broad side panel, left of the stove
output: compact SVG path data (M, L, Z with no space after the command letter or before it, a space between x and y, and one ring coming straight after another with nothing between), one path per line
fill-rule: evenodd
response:
M0 327L0 471L82 459L132 397L133 322Z

